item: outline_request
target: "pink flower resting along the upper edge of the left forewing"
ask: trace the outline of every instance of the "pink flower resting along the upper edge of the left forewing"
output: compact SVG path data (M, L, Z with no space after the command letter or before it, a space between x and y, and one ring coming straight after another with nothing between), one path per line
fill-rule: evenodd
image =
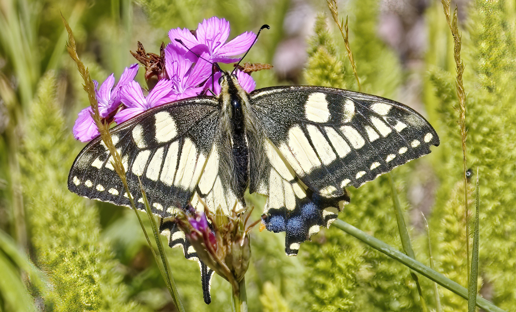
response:
M173 93L173 83L171 80L162 79L149 92L147 97L143 96L141 87L136 81L131 81L122 86L120 90L120 100L126 108L115 115L117 124L125 122L144 111L156 106L171 102L177 98Z

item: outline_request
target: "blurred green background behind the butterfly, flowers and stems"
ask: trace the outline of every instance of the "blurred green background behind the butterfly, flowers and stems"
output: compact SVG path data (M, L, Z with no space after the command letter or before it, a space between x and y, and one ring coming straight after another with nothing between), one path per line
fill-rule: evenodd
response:
M406 103L442 144L392 175L419 261L466 286L462 150L453 41L437 0L348 0L350 45L362 91ZM455 3L452 3L455 7ZM466 64L468 165L480 172L479 293L516 311L516 2L460 0ZM315 0L0 0L0 311L174 311L136 216L71 194L68 170L84 146L71 127L88 106L65 53L68 20L93 79L120 75L141 41L158 53L172 27L231 22L231 36L269 24L246 61L257 88L316 84L357 90L326 2ZM330 16L330 18L328 18ZM140 70L137 80L143 82ZM473 178L475 179L476 176ZM474 213L474 183L470 213ZM350 189L340 218L401 249L388 181ZM260 212L255 211L255 218ZM471 231L470 231L471 233ZM250 311L420 311L409 270L330 228L284 253L284 235L253 231L246 276ZM187 311L231 310L230 285L202 299L199 268L167 248ZM420 278L436 310L433 284ZM467 303L438 287L443 311Z

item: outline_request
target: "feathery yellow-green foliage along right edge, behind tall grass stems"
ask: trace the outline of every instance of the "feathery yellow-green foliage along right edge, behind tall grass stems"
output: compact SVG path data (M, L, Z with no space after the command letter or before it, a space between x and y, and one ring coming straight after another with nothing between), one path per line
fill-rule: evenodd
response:
M467 36L463 36L466 70L466 123L468 127L468 163L480 170L480 249L479 275L484 279L480 292L492 296L499 307L513 311L516 297L510 289L516 287L514 271L514 152L513 137L516 134L513 120L516 96L512 82L515 67L514 2L475 1L470 10L471 18ZM436 36L436 40L439 36ZM440 62L441 64L445 62ZM440 64L436 64L440 65ZM453 84L454 73L447 68L432 67L430 80L437 101L429 105L438 107L441 120L442 166L436 167L442 187L438 204L430 220L434 233L434 249L444 272L455 275L457 281L466 284L465 231L463 198L456 181L461 179L462 155L458 147L457 115L451 109L457 99ZM437 104L436 104L437 103ZM450 175L450 172L455 172ZM451 190L451 192L450 192ZM472 189L470 189L472 195ZM441 205L439 204L441 203ZM485 207L485 209L483 208ZM470 231L471 232L471 231ZM436 240L439 240L437 242ZM462 273L459 273L462 272ZM459 279L459 276L461 278ZM467 305L444 293L447 310L465 310Z

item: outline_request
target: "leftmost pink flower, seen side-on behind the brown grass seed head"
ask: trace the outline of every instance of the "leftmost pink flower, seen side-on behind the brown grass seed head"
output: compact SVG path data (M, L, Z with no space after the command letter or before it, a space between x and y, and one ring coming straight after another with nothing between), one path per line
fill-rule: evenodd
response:
M97 88L98 82L93 80L95 84L95 93L99 101L99 113L101 118L106 118L120 106L120 88L132 81L138 73L138 64L125 67L124 72L120 76L115 88L115 75L111 74L104 80L100 88ZM88 142L95 136L99 135L95 122L91 117L91 107L87 107L79 112L77 120L73 126L73 136L81 142Z

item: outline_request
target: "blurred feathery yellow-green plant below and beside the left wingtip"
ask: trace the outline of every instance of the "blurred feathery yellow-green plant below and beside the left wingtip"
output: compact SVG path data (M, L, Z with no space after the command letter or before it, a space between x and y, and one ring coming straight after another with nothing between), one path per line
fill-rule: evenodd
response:
M49 272L54 311L129 311L117 261L99 237L96 210L68 192L67 169L76 152L56 105L52 73L40 82L21 159L24 197L37 265ZM71 152L72 151L72 152Z

